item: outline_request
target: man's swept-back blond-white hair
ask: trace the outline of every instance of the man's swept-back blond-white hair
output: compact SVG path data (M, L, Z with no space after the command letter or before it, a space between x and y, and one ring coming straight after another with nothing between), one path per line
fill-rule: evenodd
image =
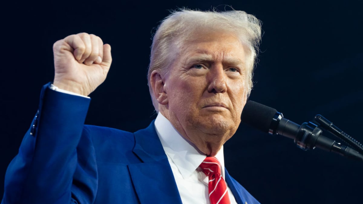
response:
M258 46L261 40L261 23L253 15L244 11L194 11L181 9L172 11L158 26L152 39L150 64L148 68L148 85L155 110L158 111L151 85L150 77L154 70L158 70L161 76L165 76L168 68L175 58L175 48L179 52L189 36L195 31L222 31L235 34L246 48L246 69L248 69L248 95L251 92L253 83L253 68ZM174 50L171 50L174 49ZM173 52L174 51L174 52Z

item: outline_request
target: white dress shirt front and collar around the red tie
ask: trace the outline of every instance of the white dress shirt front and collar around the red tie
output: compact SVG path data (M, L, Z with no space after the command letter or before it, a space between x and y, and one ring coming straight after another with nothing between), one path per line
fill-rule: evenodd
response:
M185 140L161 113L155 119L155 129L168 157L183 204L210 204L208 177L198 170L207 156ZM225 179L223 146L215 157L221 163L221 175ZM231 204L237 204L228 185L227 189Z

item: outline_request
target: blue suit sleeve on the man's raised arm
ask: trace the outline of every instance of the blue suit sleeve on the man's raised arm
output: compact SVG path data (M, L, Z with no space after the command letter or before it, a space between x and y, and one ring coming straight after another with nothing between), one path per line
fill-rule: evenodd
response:
M97 175L87 167L88 155L83 153L78 158L77 154L90 146L90 139L82 136L89 103L89 98L49 89L49 83L43 86L37 114L19 153L8 166L1 204L77 203L73 190L94 194L96 189L90 189L85 182L91 180L96 185ZM81 139L85 140L84 145L78 147ZM82 172L91 179L82 178ZM73 182L76 185L72 186Z

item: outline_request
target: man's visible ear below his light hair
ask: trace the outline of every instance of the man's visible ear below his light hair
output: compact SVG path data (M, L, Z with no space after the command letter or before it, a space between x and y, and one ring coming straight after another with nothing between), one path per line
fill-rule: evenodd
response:
M161 105L167 105L168 95L166 93L166 85L157 70L151 72L150 85L156 101Z

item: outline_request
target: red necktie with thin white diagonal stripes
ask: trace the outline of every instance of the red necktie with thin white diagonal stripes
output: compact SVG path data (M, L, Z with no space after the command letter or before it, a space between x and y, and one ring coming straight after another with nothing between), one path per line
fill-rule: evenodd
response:
M217 158L207 156L199 166L208 176L208 191L211 204L231 204L227 184L221 175L221 165Z

